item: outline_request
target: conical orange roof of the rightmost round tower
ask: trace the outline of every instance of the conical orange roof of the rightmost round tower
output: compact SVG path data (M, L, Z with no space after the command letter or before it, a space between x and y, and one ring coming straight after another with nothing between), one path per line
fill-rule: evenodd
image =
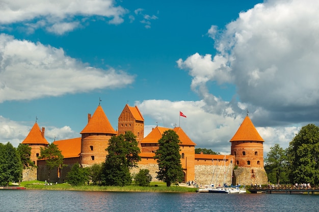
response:
M248 116L244 119L241 126L236 131L235 135L230 139L232 141L264 141L259 135L253 122Z

